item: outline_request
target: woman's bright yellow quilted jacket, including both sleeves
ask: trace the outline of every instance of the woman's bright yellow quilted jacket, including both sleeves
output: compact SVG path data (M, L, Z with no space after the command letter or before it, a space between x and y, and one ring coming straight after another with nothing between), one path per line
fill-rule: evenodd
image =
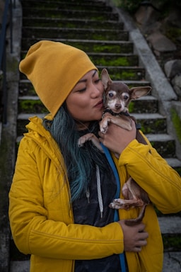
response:
M27 128L9 193L9 218L16 246L24 254L32 254L30 272L74 272L74 259L122 253L123 234L117 222L105 227L74 224L64 159L57 143L40 118L30 118ZM149 143L146 146L134 140L119 160L114 160L121 186L132 175L161 212L181 210L180 176ZM119 210L119 217L138 213L136 208ZM146 208L144 223L148 244L139 254L126 253L129 272L161 272L163 244L153 205Z

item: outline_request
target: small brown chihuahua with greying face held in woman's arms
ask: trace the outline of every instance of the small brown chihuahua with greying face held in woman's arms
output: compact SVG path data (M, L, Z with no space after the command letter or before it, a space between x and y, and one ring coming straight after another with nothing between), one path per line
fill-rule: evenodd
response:
M129 89L129 87L123 82L113 82L107 72L107 69L103 69L101 72L101 80L105 89L104 93L104 106L105 110L103 112L102 120L100 121L100 131L103 133L107 132L109 123L114 123L126 130L132 130L131 119L136 120L134 117L129 115L128 106L130 101L145 96L151 91L150 86L134 87ZM147 145L146 140L139 132L139 125L137 125L136 130L136 140L144 145ZM103 148L100 142L93 133L88 133L83 135L78 140L78 146L81 147L83 144L91 140L93 145L98 147L103 152ZM115 154L119 157L118 154ZM122 188L122 195L124 199L115 199L110 203L110 208L129 210L129 208L139 207L141 211L139 216L134 219L125 220L126 225L136 225L141 222L144 217L144 212L146 210L146 205L150 203L148 195L144 189L142 189L132 177L128 179Z

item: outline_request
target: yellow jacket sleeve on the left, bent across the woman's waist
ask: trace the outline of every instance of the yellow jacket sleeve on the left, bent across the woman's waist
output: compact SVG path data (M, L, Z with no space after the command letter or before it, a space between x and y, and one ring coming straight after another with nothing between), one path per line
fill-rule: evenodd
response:
M47 191L42 187L43 177L38 171L35 148L34 142L21 142L9 192L11 232L18 249L24 254L54 259L100 259L121 253L123 234L117 222L93 227L76 225L69 215L69 222L57 220L56 216L55 220L49 219L43 197ZM41 156L38 163L44 165L46 159ZM54 207L54 213L59 212L59 208Z

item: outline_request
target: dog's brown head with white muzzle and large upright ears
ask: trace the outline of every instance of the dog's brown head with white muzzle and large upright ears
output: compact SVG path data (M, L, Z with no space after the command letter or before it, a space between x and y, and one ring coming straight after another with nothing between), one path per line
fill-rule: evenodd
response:
M105 108L109 108L117 114L127 112L130 101L145 96L151 91L150 86L129 89L127 84L124 84L122 81L113 82L107 69L103 69L100 77L105 89Z

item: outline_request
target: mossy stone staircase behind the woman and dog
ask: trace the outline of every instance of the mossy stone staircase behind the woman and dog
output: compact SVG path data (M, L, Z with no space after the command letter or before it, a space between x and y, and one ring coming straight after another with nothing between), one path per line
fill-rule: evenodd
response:
M114 81L122 80L132 86L152 86L146 77L146 69L140 65L139 55L134 52L134 43L129 40L129 32L119 14L105 1L95 0L23 0L23 28L21 59L35 42L54 40L80 48L88 53L101 71L107 68ZM167 117L160 113L158 98L153 93L132 101L129 112L141 123L142 130L153 147L168 163L181 173L181 162L176 157L175 139L168 134ZM25 125L32 115L47 113L36 96L30 81L20 74L17 142L26 132ZM165 248L164 272L172 266L172 254L181 271L181 218L180 214L165 216L158 214ZM177 227L175 227L175 225ZM170 227L169 227L170 226ZM178 259L178 261L177 261ZM11 239L11 272L28 271L29 256L18 252ZM171 261L170 261L171 260ZM170 261L170 266L169 266ZM175 266L176 267L176 266Z

